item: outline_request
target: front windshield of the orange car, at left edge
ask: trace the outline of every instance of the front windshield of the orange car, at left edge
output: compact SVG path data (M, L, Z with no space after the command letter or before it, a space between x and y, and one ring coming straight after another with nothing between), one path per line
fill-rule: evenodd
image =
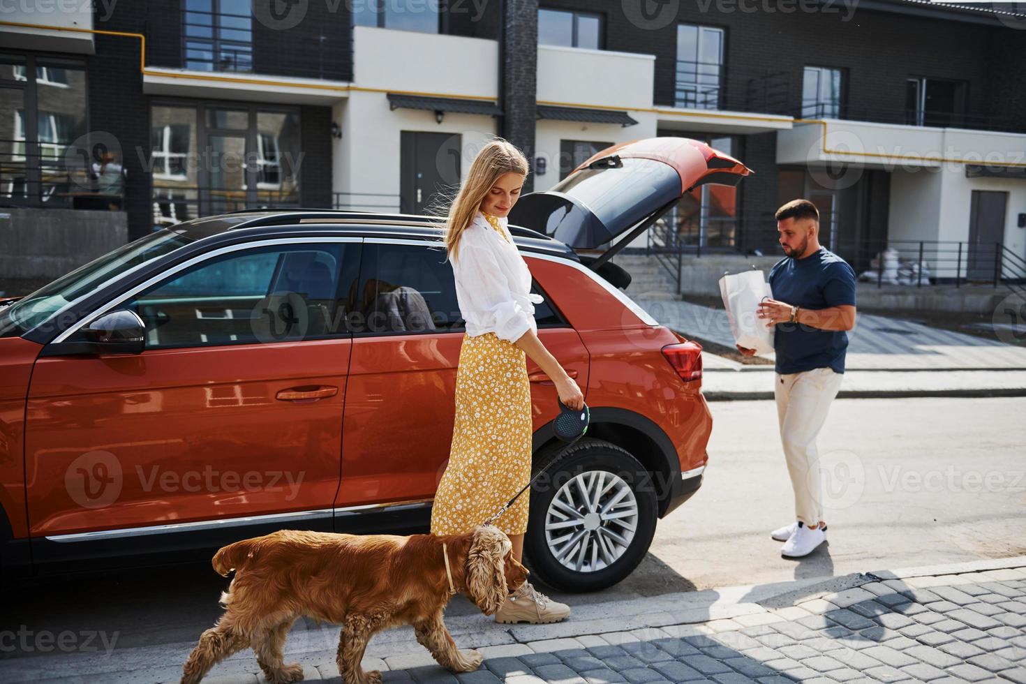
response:
M22 335L66 306L147 261L194 242L185 231L164 229L104 254L0 309L0 337Z

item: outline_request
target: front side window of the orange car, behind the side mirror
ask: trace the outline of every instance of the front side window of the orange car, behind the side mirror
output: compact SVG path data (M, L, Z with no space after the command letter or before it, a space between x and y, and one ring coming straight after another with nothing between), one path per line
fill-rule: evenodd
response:
M177 273L127 303L146 348L319 339L348 335L355 243L273 245L229 252Z

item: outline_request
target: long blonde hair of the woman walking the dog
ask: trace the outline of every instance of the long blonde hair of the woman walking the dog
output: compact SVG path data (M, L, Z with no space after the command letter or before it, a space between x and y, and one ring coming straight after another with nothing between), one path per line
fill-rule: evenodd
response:
M511 171L526 176L529 170L526 157L509 140L498 137L481 148L449 205L443 238L449 256L459 257L460 237L499 177Z

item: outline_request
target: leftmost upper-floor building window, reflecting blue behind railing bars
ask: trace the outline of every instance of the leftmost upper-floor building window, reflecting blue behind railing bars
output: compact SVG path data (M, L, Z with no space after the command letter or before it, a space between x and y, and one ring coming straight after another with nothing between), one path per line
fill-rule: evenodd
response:
M185 0L182 16L186 69L253 70L249 0Z

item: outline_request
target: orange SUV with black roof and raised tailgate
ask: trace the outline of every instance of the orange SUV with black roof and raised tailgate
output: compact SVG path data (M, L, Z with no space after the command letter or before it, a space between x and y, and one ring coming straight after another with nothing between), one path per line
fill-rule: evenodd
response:
M525 539L550 586L627 576L702 483L701 348L631 301L608 258L694 187L748 172L653 138L514 206L539 336L591 408L560 455L557 394L528 359L535 468L559 457ZM424 216L238 212L0 301L2 571L200 559L281 528L426 527L464 335L440 238Z

